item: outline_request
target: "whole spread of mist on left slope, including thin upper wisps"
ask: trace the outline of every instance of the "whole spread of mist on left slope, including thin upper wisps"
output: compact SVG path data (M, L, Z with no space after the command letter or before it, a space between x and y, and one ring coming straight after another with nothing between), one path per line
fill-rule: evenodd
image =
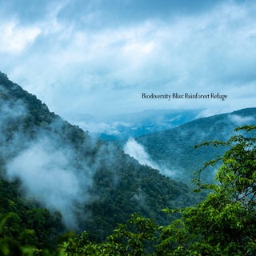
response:
M30 124L27 130L23 126L29 111L21 99L0 99L0 106L2 178L18 178L25 200L33 198L52 213L60 211L66 226L77 230L76 215L86 215L82 206L90 200L94 168L85 159L79 162L78 152L64 143L61 118L46 127Z

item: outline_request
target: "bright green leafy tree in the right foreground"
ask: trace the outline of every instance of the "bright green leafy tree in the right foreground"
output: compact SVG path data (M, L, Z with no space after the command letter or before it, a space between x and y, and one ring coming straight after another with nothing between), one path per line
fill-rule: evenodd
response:
M204 142L199 146L227 146L229 150L198 171L195 184L208 190L206 200L180 212L182 218L162 227L158 253L164 255L256 254L256 126L242 126L227 142ZM195 146L198 147L198 146ZM216 183L202 184L200 174L222 162Z

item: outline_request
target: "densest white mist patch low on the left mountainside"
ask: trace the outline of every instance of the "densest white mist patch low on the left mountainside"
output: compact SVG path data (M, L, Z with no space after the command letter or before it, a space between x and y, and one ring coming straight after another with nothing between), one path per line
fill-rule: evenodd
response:
M60 147L61 148L61 147ZM57 148L47 137L31 142L21 154L6 165L9 181L19 178L26 197L33 197L50 212L59 210L63 222L71 229L77 229L75 212L78 204L84 204L86 188L91 185L74 169L74 152L69 148Z

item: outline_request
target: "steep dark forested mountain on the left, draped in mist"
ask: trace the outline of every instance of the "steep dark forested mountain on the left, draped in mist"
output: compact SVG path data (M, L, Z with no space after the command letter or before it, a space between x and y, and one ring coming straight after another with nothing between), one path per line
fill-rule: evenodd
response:
M87 230L91 240L102 242L134 212L163 225L174 218L163 208L202 200L203 195L192 194L183 182L70 125L3 73L0 117L0 192L5 205L0 215L12 216L6 237L18 240L24 230L34 229L33 242L40 247L66 229L62 220L69 229Z

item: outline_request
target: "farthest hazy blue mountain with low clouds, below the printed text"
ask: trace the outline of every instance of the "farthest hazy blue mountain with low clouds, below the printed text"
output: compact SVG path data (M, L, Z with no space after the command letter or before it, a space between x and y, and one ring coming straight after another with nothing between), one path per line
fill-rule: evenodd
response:
M167 130L190 122L198 117L200 110L144 110L138 113L118 114L95 118L90 114L70 113L65 118L71 123L89 130L94 138L119 140L138 137L158 130Z

